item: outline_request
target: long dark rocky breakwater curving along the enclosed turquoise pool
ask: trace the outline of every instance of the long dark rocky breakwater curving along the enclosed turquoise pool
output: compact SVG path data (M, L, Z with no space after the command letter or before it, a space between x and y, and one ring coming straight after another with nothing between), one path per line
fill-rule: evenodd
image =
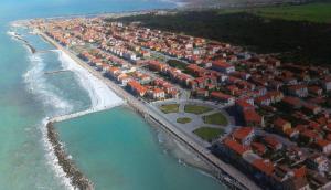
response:
M82 171L74 165L74 162L65 154L60 139L58 134L54 129L53 123L47 123L47 138L53 146L55 156L57 157L58 165L63 168L66 176L71 179L72 184L81 190L93 190L94 186L89 179L87 179Z

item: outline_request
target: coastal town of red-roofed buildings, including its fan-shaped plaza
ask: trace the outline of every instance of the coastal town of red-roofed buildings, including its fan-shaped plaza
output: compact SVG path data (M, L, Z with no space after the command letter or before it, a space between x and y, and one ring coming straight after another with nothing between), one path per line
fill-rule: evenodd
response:
M241 171L261 189L331 188L328 66L104 17L30 27L231 167L222 169L235 180Z

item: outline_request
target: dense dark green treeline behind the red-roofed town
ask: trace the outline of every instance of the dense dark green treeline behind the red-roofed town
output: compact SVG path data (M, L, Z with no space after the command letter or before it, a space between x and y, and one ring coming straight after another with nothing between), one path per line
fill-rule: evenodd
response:
M220 10L120 18L143 27L242 45L258 53L281 53L286 61L331 64L331 24L267 19L249 12Z

